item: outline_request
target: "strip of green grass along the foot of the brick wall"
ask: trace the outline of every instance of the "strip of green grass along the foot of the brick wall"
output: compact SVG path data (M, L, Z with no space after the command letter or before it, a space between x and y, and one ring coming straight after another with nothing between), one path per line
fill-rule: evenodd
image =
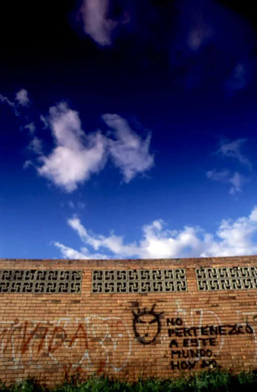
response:
M236 392L257 391L257 371L232 373L210 370L179 378L138 380L134 383L108 377L91 377L86 381L72 378L62 385L47 388L35 378L6 386L0 382L0 392Z

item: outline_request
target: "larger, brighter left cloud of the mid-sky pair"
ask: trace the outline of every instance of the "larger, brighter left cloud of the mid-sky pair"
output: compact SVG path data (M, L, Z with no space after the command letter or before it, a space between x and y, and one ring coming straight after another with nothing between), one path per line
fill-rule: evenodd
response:
M104 168L106 138L101 132L86 135L78 112L65 103L51 107L49 113L48 123L56 147L48 156L39 158L42 166L38 172L66 192L72 192L92 173Z

